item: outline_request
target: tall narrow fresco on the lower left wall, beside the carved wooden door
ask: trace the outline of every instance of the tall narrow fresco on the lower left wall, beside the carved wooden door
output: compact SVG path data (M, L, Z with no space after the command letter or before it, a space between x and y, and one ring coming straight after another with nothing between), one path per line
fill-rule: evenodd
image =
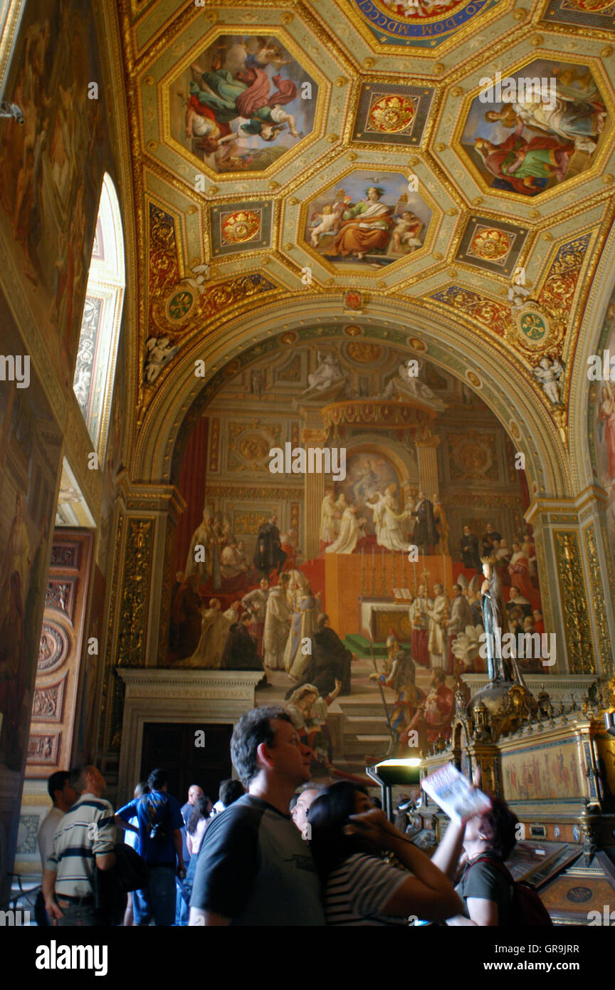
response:
M1 291L0 326L5 351L24 355ZM32 364L18 385L0 390L0 872L17 826L62 444Z

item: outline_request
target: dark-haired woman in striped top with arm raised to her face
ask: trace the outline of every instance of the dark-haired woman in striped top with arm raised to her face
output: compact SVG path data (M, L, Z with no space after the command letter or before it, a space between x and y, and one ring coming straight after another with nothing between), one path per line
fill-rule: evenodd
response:
M444 873L397 832L362 787L330 784L311 803L308 824L327 925L407 925L410 915L443 921L460 911ZM385 862L386 851L411 874Z

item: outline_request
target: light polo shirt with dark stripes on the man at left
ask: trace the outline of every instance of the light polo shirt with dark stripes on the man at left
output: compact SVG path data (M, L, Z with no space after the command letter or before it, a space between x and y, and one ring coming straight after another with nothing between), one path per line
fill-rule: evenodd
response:
M82 794L53 834L45 869L55 875L58 897L90 897L96 855L113 852L116 841L113 808L94 794Z

